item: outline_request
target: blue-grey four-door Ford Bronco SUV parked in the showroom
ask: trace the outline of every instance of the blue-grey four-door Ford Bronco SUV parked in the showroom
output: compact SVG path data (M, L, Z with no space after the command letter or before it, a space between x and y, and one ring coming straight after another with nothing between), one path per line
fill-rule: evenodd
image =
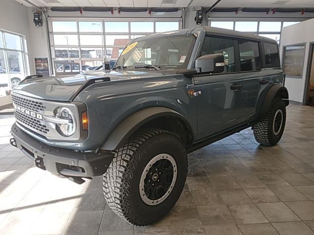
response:
M213 27L144 36L111 71L22 81L11 144L78 184L104 175L109 207L147 225L177 202L188 153L248 127L261 144L281 139L284 78L271 39Z

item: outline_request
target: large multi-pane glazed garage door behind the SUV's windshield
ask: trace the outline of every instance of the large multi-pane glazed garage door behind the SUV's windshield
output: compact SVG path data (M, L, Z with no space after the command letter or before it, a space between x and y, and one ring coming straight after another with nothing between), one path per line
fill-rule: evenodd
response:
M178 30L181 21L50 21L52 59L77 62L80 71L97 68L105 61L112 68L124 47L138 37Z

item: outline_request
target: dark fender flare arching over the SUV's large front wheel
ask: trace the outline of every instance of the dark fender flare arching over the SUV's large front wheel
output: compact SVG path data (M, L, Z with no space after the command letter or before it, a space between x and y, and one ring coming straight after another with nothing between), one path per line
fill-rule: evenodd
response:
M101 149L115 150L122 146L122 144L129 139L129 137L138 130L145 123L159 117L172 116L181 119L191 131L193 135L192 127L187 119L175 110L166 107L149 107L141 109L128 118L121 121L106 138ZM194 140L194 136L193 136Z

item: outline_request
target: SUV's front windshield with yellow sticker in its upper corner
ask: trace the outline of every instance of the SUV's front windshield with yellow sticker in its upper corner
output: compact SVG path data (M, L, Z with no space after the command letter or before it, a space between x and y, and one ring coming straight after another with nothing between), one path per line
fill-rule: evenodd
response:
M194 43L192 34L139 39L124 48L115 67L152 69L150 65L154 65L162 70L186 69Z

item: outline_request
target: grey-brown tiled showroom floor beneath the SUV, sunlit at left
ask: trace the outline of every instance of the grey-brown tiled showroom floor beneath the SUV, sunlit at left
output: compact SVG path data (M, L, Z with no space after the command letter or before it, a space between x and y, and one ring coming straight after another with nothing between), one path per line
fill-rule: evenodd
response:
M247 129L190 154L177 205L157 224L134 227L105 205L101 177L74 184L5 144L14 120L2 116L0 234L314 235L313 120L314 108L291 104L274 147Z

